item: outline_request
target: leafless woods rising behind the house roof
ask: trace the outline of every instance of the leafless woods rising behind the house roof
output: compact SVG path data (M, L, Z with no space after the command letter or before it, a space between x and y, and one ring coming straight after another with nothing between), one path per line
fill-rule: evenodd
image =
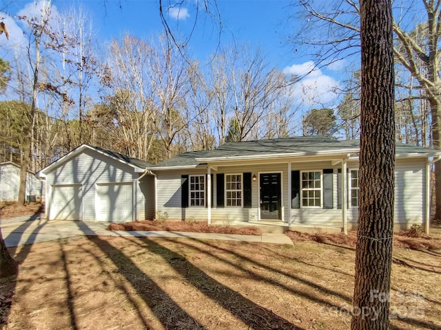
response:
M435 18L440 10L439 3L422 2L427 4L422 23L409 28L407 22L405 29L400 21L393 25L396 137L438 147L440 29ZM328 12L313 5L305 1L299 13L325 21ZM336 19L331 24L347 31L347 41L349 33L358 40L356 4L348 2L347 12L353 16L344 27ZM78 8L54 16L48 1L39 17L19 19L27 49L0 61L1 162L37 171L83 143L157 163L229 141L360 136L357 68L344 82L337 107L302 111L294 99L294 83L301 77L269 67L263 52L249 45L223 47L200 67L167 36L144 40L127 34L114 39L104 56L94 47L90 17ZM305 28L301 43L313 44L307 36ZM0 38L8 42L4 34ZM329 44L337 41L329 37ZM300 44L300 39L288 42ZM318 52L316 63L324 58L325 52Z

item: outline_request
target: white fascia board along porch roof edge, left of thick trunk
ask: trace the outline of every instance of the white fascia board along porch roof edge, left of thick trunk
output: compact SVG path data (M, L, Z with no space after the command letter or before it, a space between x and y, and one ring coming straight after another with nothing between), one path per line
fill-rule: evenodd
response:
M210 158L196 158L196 162L226 162L229 160L254 160L254 159L269 159L269 158L291 158L291 157L320 157L325 155L346 156L349 153L358 153L360 148L344 149L339 151L318 151L316 153L272 153L267 155L248 155L248 156L224 156L224 157L210 157Z

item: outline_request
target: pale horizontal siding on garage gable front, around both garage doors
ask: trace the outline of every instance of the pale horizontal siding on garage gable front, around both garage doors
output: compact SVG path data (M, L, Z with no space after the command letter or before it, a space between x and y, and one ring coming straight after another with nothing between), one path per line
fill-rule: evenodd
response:
M81 184L83 221L95 221L96 184L134 182L137 177L139 177L139 173L134 173L134 168L131 166L87 148L76 157L54 168L47 174L46 181L48 190L50 190L48 196L51 196L52 185ZM139 191L138 187L136 187L136 191ZM140 202L139 196L136 199ZM141 203L143 202L141 201Z

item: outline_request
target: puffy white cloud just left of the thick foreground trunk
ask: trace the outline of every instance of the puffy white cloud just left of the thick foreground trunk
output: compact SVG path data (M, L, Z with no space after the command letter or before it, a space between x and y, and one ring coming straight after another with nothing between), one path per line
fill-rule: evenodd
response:
M294 84L293 97L298 102L314 106L314 104L329 104L338 98L336 89L340 87L337 80L322 73L314 62L285 67L283 73L303 77Z

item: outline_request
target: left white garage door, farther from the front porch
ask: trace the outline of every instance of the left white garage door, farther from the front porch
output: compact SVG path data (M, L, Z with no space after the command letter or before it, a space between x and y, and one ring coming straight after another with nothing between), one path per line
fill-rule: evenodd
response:
M82 220L81 186L53 186L49 219Z

